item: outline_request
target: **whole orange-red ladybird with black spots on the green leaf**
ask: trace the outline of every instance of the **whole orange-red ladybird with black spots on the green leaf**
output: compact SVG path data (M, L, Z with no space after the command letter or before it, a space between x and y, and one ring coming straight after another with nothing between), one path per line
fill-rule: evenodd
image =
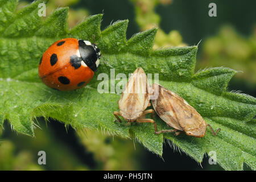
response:
M52 89L80 89L92 80L100 58L100 49L88 40L61 39L53 43L41 57L39 77Z

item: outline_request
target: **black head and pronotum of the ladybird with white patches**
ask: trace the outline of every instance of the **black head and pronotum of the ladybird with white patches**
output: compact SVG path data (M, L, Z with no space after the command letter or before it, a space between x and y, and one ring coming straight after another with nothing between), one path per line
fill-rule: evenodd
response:
M88 40L79 40L79 51L84 63L92 71L97 71L100 65L101 52L96 44L92 44Z

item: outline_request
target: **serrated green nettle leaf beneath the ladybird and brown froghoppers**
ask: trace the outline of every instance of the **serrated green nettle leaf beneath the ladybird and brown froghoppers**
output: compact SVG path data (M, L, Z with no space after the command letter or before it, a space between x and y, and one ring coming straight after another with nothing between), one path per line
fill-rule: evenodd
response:
M67 28L68 9L57 9L46 20L38 16L35 1L14 13L17 1L0 0L0 125L9 121L15 131L34 136L36 117L53 118L75 129L102 129L124 138L135 138L148 150L161 155L164 138L197 162L205 152L215 152L217 163L227 170L241 170L243 163L256 169L256 99L246 94L227 92L236 71L212 68L194 74L197 46L152 51L156 28L135 34L126 40L128 20L100 30L102 15L89 16L72 30ZM96 41L103 59L93 80L85 88L59 92L48 88L38 77L43 52L60 38ZM142 67L146 73L159 73L159 84L183 97L203 116L213 129L221 128L216 137L207 131L203 138L185 134L154 134L150 123L115 123L120 95L99 93L100 73L108 74L110 85L119 80L110 76L110 68L129 73ZM112 84L111 84L112 83ZM159 129L168 129L155 114Z

